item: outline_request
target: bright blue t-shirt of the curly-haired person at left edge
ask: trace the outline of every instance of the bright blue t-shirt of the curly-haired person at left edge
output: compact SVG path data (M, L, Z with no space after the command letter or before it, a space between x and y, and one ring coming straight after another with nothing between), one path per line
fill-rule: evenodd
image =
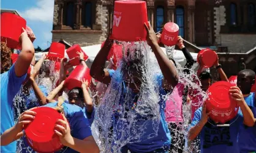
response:
M6 73L1 74L1 135L7 129L14 126L13 119L13 98L20 90L26 74L17 77L14 65ZM1 146L1 152L16 152L16 144L14 141L7 146Z

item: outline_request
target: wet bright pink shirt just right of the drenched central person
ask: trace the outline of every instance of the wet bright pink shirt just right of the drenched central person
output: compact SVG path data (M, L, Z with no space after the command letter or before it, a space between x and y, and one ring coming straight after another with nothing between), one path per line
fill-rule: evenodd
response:
M165 107L165 121L167 123L183 123L183 90L184 85L178 83L169 95Z

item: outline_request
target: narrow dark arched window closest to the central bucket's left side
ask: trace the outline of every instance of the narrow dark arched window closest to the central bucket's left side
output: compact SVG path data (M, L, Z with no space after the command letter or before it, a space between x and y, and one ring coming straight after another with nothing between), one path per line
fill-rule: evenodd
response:
M83 26L92 28L92 3L85 2L83 8Z

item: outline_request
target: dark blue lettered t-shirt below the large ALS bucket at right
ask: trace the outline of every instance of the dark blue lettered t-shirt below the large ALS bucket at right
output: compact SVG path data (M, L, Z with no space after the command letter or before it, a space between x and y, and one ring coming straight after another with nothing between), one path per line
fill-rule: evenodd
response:
M200 121L201 110L202 107L195 111L190 127L197 125ZM240 111L241 110L239 110L239 112ZM243 123L243 117L239 114L228 121L228 123L225 123L230 124L230 126L227 127L217 127L214 121L208 119L208 122L199 133L201 153L239 153L237 138L239 125L241 123Z

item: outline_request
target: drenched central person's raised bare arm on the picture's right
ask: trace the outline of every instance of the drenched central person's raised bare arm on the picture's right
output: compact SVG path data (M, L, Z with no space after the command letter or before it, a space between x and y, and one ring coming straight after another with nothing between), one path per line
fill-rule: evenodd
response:
M163 80L163 88L165 90L171 91L178 84L178 73L176 71L175 65L171 63L171 61L164 54L159 44L157 43L157 37L152 29L150 23L149 27L145 23L145 28L148 32L148 44L151 46L152 51L156 55L157 62L159 63L160 69L164 76Z

